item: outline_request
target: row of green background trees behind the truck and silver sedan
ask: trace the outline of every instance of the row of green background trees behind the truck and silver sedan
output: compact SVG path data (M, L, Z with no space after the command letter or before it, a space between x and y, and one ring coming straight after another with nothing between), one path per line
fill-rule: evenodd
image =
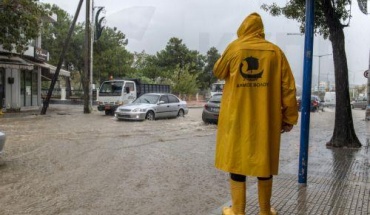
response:
M67 38L71 17L56 5L46 5L58 15L58 21L44 26L43 48L50 52L50 63L56 65ZM84 71L84 24L78 23L74 29L69 50L64 59L65 69L71 71L72 79L83 82ZM93 82L99 86L111 76L114 78L138 78L143 83L170 84L172 90L181 94L198 91L198 86L206 89L215 81L212 69L220 57L216 48L211 48L207 56L189 50L179 38L171 38L164 50L155 55L130 53L126 50L128 40L117 28L106 27L101 38L94 42ZM73 83L76 80L72 80ZM75 85L76 86L76 85ZM77 87L77 86L76 86ZM77 87L78 88L78 87Z

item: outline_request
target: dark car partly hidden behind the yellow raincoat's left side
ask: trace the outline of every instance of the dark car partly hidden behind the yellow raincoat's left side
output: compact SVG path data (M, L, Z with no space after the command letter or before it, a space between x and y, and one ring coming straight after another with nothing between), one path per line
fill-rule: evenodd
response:
M222 94L214 94L203 107L202 120L205 123L218 123Z

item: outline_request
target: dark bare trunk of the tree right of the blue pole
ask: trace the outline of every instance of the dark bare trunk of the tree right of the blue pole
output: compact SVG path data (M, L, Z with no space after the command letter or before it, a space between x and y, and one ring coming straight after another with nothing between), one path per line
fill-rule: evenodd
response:
M329 27L329 39L333 47L334 74L335 74L335 123L328 147L359 148L358 140L353 126L352 110L349 96L348 65L345 51L344 26L336 18L330 0L324 0L324 13Z

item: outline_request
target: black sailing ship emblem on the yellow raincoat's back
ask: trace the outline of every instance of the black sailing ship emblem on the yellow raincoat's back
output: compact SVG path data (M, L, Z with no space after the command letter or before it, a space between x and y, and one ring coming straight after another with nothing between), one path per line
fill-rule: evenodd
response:
M247 79L248 81L256 81L259 78L262 78L263 70L256 73L255 71L259 68L258 58L247 57L241 63L239 67L240 75Z

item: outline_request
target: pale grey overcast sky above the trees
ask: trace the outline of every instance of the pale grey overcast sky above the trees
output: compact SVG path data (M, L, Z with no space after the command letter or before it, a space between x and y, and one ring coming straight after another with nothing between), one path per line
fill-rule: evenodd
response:
M56 4L71 16L74 16L79 3L78 0L40 2ZM126 35L130 52L144 50L149 54L164 49L171 37L182 39L189 49L202 54L212 46L222 53L227 44L235 39L243 19L251 12L258 12L264 21L266 38L285 52L296 82L301 85L304 36L291 35L299 32L297 22L284 17L272 17L260 9L262 3L272 2L284 4L286 0L95 0L94 5L105 7L106 25L117 27ZM85 2L78 21L85 21ZM361 13L357 1L353 1L350 27L345 29L350 84L367 83L363 73L370 63L369 26L370 15ZM331 43L322 37L315 37L314 55L330 53ZM320 81L332 82L332 56L314 57L312 70L313 86L317 85L319 73Z

